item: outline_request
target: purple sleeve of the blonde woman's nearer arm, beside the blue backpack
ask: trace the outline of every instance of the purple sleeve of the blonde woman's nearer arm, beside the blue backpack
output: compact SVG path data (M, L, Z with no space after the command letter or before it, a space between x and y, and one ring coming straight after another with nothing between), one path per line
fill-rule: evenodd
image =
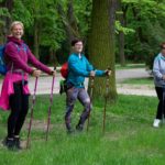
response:
M29 74L33 73L33 69L24 61L20 58L20 56L18 55L18 50L14 45L7 44L4 53L6 53L6 57L9 61L11 61L13 65L19 66L21 69L23 69L24 72Z

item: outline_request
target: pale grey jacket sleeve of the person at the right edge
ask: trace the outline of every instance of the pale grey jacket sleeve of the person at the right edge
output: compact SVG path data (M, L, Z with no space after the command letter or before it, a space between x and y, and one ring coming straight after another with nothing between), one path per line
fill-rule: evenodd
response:
M157 79L160 79L160 80L161 80L162 77L163 77L162 73L160 72L160 59L158 59L158 57L156 57L156 58L154 59L153 74L154 74L154 76L155 76Z

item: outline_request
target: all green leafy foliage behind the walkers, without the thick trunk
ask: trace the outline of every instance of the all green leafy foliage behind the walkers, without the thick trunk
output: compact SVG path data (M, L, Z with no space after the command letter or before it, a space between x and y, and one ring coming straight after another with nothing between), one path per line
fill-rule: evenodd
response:
M48 50L46 54L50 54L51 50L54 54L58 54L59 61L66 61L69 53L69 44L66 41L67 31L72 26L68 21L68 0L14 0L11 13L7 8L0 8L0 28L6 26L4 18L22 21L25 26L24 37L32 48L36 28L41 54L44 54L43 50L46 47ZM158 45L165 38L165 0L121 0L121 2L122 11L118 11L117 14L123 14L127 9L125 24L121 25L119 20L116 20L116 33L118 35L119 32L123 32L125 35L127 59L145 61L152 68L153 58L160 51ZM63 8L63 15L58 12L58 4ZM73 8L78 26L76 34L87 40L91 28L92 0L73 1ZM3 30L1 31L3 33ZM118 54L118 41L116 50Z

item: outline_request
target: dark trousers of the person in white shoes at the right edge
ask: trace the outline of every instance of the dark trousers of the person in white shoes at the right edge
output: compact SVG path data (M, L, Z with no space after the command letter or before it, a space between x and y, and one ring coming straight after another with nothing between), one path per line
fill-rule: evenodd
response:
M158 98L156 119L162 119L162 116L165 114L165 98L163 100L163 90L165 92L165 89L162 87L155 87L155 89Z

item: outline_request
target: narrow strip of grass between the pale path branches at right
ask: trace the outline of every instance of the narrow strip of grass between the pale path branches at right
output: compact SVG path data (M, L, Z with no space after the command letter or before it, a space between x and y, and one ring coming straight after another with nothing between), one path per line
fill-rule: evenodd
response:
M153 85L154 80L152 77L150 78L130 78L122 81L122 84L130 85Z

